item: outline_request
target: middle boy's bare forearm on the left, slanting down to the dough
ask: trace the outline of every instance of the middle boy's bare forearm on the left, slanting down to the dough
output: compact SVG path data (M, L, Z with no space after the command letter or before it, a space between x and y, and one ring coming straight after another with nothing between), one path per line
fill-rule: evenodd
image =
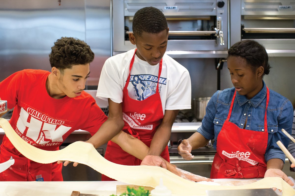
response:
M98 148L117 135L123 126L124 121L122 119L108 118L87 142L92 143L95 148Z

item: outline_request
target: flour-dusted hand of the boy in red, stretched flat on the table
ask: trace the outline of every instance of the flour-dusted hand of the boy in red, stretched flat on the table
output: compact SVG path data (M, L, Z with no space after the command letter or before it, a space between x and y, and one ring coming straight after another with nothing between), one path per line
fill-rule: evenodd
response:
M176 167L173 164L170 164L170 165L171 165L171 167L170 166L168 167L169 171L171 171L172 173L174 173L186 180L193 181L193 182L201 182L201 181L213 182L213 180L210 178L195 175L191 172L179 169L178 167Z

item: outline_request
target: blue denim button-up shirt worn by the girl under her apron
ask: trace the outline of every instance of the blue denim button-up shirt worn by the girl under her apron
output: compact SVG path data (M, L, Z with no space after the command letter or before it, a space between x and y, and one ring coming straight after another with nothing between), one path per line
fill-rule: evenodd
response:
M234 95L235 88L227 88L223 91L217 91L212 96L206 108L206 115L202 120L201 127L197 132L201 133L208 140L215 139L213 147L216 149L218 142L217 136L227 118L230 110L230 103ZM266 85L263 81L263 88L252 99L236 93L236 98L230 116L230 122L239 128L246 130L262 131L264 129L264 114L266 108ZM276 93L269 90L269 103L267 108L267 131L268 143L265 153L266 162L273 158L279 158L285 163L285 154L278 147L276 142L281 142L287 147L289 138L281 131L285 129L291 134L293 123L293 106L291 102Z

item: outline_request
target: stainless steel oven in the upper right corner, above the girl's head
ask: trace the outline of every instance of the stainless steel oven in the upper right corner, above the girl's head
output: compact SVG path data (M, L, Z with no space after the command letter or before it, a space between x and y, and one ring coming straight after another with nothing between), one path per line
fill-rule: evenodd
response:
M295 1L231 1L231 44L254 39L276 56L295 51ZM237 32L237 33L233 33Z

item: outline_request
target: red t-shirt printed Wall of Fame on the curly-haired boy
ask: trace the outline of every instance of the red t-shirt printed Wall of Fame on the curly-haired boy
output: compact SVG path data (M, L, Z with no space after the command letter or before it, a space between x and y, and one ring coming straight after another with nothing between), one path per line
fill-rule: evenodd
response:
M91 135L107 117L86 92L81 96L55 99L46 91L50 72L27 69L0 82L0 98L13 108L9 123L27 143L43 150L55 150L74 130Z

